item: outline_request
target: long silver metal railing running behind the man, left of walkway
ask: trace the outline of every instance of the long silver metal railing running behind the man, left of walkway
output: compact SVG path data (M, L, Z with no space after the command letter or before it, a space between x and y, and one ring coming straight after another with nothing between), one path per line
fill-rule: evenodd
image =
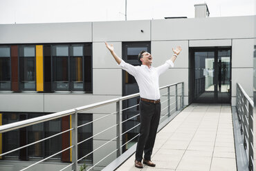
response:
M178 88L178 85L181 84L181 88ZM175 90L172 90L170 91L170 88L172 86L175 86ZM180 109L183 108L183 104L184 104L184 83L183 82L180 82L180 83L174 83L174 84L171 84L171 85L168 85L168 86L163 86L160 88L160 90L162 89L165 89L167 88L167 100L163 101L162 103L165 103L166 101L168 101L167 103L167 107L165 107L165 109L168 108L167 110L167 113L163 116L163 117L166 117L167 114L168 114L168 117L170 117L170 114L173 110L178 110L178 96L180 97ZM182 92L181 92L181 95L178 94L178 90L179 89L182 89ZM170 92L174 92L176 91L176 94L172 94L170 95ZM165 94L164 94L165 95ZM130 139L127 143L123 144L123 145L120 145L120 137L129 132L130 130L138 127L138 125L140 125L140 123L138 125L135 125L133 128L130 128L129 130L125 131L125 132L120 132L120 125L122 123L125 123L126 121L129 121L130 119L138 116L139 114L136 114L136 116L134 117L130 117L129 119L125 120L125 121L120 121L120 112L124 111L124 110L127 110L129 108L134 108L136 107L137 105L134 105L134 106L131 106L129 108L125 108L125 109L120 109L120 102L121 101L124 101L124 100L127 100L127 99L131 99L131 98L134 98L134 97L138 97L139 96L139 93L136 93L136 94L131 94L131 95L128 95L128 96L125 96L125 97L120 97L120 98L116 98L116 99L111 99L111 100L107 100L107 101L101 101L101 102L98 102L98 103L93 103L93 104L90 104L90 105L84 105L82 107L79 107L79 108L73 108L71 110L65 110L65 111L62 111L62 112L56 112L56 113L53 113L53 114L48 114L48 115L45 115L45 116L42 116L42 117L36 117L36 118L33 118L33 119L27 119L27 120L24 120L24 121L18 121L18 122L15 122L15 123L9 123L9 124L6 124L6 125L1 125L0 126L0 133L3 133L3 132L8 132L8 131L11 131L11 130L16 130L16 129L19 129L19 128L24 128L26 126L29 126L29 125L35 125L37 123L43 123L45 121L51 121L53 119L59 119L61 117L66 117L68 115L71 115L71 119L72 119L72 128L69 129L69 130L65 130L63 132L59 132L57 134L54 134L52 135L51 137L46 137L45 139L41 139L39 141L35 141L33 143L30 143L30 144L27 144L27 145L24 145L24 146L21 146L19 148L16 148L14 150L10 150L8 152L5 152L3 154L0 154L0 157L5 155L5 154L8 154L10 152L14 152L16 150L20 150L21 148L26 148L30 145L34 145L35 143L39 143L41 141L45 141L46 139L51 139L53 137L56 137L57 135L60 135L60 134L63 134L64 132L68 132L68 131L72 131L72 145L64 150L61 150L60 152L56 152L55 154L52 154L50 157L47 157L45 159L42 159L41 161L37 161L36 163L33 163L32 165L29 165L28 167L24 168L23 170L26 170L30 167L32 167L33 165L36 165L37 163L41 163L42 161L46 161L46 159L50 159L51 157L57 155L57 154L60 154L61 152L64 152L65 150L68 150L68 149L73 149L72 150L72 163L68 166L66 166L65 168L63 168L62 170L65 170L66 168L68 168L69 166L72 165L72 170L77 170L77 162L78 161L81 161L82 159L84 159L85 157L89 156L90 154L92 154L93 152L95 152L96 150L99 150L100 148L102 148L104 145L107 145L107 143L110 143L111 141L113 141L114 139L116 139L116 142L117 142L117 149L114 150L113 152L116 152L117 151L117 156L120 155L120 151L121 151L121 148L122 146L124 146L125 144L129 143L129 141L131 141L132 139L135 139L138 134L136 135L136 137L133 137L132 139ZM171 97L172 96L172 97ZM161 95L161 97L163 97L163 95ZM174 101L174 103L176 103L176 108L173 108L172 110L170 109L170 105L174 104L174 103L170 103L170 99L176 97L176 101ZM84 110L91 110L93 108L98 108L98 107L101 107L101 106L104 106L104 105L109 105L111 103L116 103L116 112L112 112L111 114L107 114L106 116L104 117L100 117L98 119L95 119L93 121L90 121L89 123L84 123L82 125L77 125L77 113L78 112L83 112ZM119 107L118 107L119 106ZM163 109L163 110L165 110ZM95 121L98 121L100 119L103 119L105 117L109 117L110 115L112 114L116 114L116 124L114 125L111 125L109 128L106 128L104 130L102 130L101 132L98 132L97 134L94 134L93 136L85 139L85 140L82 140L80 142L77 142L77 128L81 128L83 127L84 125L89 125L90 123L93 123ZM161 119L163 119L163 117L161 117ZM89 154L86 154L84 157L81 157L80 159L77 159L77 145L80 145L80 143L84 143L85 141L97 136L98 134L102 134L102 132L105 132L111 128L114 128L116 127L116 137L114 137L113 139L107 141L107 143L104 143L103 145L100 145L100 147L96 148L95 150L93 150L92 152L89 152ZM111 152L110 154L113 154L113 152ZM110 154L108 154L106 157L104 157L103 159L101 159L100 161L106 159ZM100 163L100 161L98 163ZM98 163L96 163L95 165L97 165ZM93 168L95 165L93 165L91 168ZM90 169L91 169L90 168Z

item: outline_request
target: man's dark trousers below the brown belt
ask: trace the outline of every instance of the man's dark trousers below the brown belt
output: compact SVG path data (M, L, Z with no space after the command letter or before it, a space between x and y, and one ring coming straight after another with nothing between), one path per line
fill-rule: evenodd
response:
M136 161L151 160L156 131L161 113L161 103L140 101L140 135L136 148Z

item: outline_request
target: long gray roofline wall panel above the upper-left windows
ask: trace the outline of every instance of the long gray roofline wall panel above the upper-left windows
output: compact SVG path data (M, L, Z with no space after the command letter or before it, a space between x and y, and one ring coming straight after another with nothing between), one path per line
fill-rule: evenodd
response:
M0 25L0 43L91 42L91 23Z

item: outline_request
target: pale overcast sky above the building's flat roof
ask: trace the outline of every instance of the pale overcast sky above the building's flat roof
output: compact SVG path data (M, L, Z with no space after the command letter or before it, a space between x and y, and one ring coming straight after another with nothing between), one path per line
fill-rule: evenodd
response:
M255 0L127 0L127 20L194 18L199 3L210 17L255 15ZM125 0L0 0L0 24L124 20Z

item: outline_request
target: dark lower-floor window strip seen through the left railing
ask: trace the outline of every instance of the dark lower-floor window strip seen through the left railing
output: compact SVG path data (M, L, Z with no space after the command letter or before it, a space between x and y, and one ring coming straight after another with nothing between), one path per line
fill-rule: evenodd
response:
M31 119L35 117L44 116L44 113L25 113L25 112L3 112L3 125L8 123L14 123L17 121ZM60 133L64 130L70 128L70 120L69 116L66 117L66 123L63 123L65 119L59 118L54 119L52 121L46 121L44 123L38 123L35 125L31 125L25 128L20 128L17 130L12 130L10 132L3 133L3 152L8 152L15 148L19 148L28 143L33 143L35 141L39 141L40 139L44 139L46 137L51 137L54 134ZM78 114L78 125L82 125L84 123L89 123L93 119L93 114ZM43 159L49 157L61 150L64 150L63 143L70 146L70 133L66 132L67 137L64 137L63 134L60 134L51 139L47 139L40 143L35 143L35 145L30 145L28 148L23 148L21 150L17 150L10 154L7 154L5 157L7 158L18 158L21 160L29 160L29 159ZM65 134L65 133L64 133ZM84 139L88 139L93 136L93 124L84 125L81 128L78 128L77 142L83 141ZM0 146L1 148L1 146ZM93 150L93 139L89 139L84 143L78 145L78 157L84 157L86 154ZM68 161L70 160L69 152L70 150L66 150L68 154ZM63 153L63 152L62 152ZM56 154L51 159L60 160L64 156L62 153ZM92 161L93 154L90 154L83 161ZM63 161L63 159L62 159Z

